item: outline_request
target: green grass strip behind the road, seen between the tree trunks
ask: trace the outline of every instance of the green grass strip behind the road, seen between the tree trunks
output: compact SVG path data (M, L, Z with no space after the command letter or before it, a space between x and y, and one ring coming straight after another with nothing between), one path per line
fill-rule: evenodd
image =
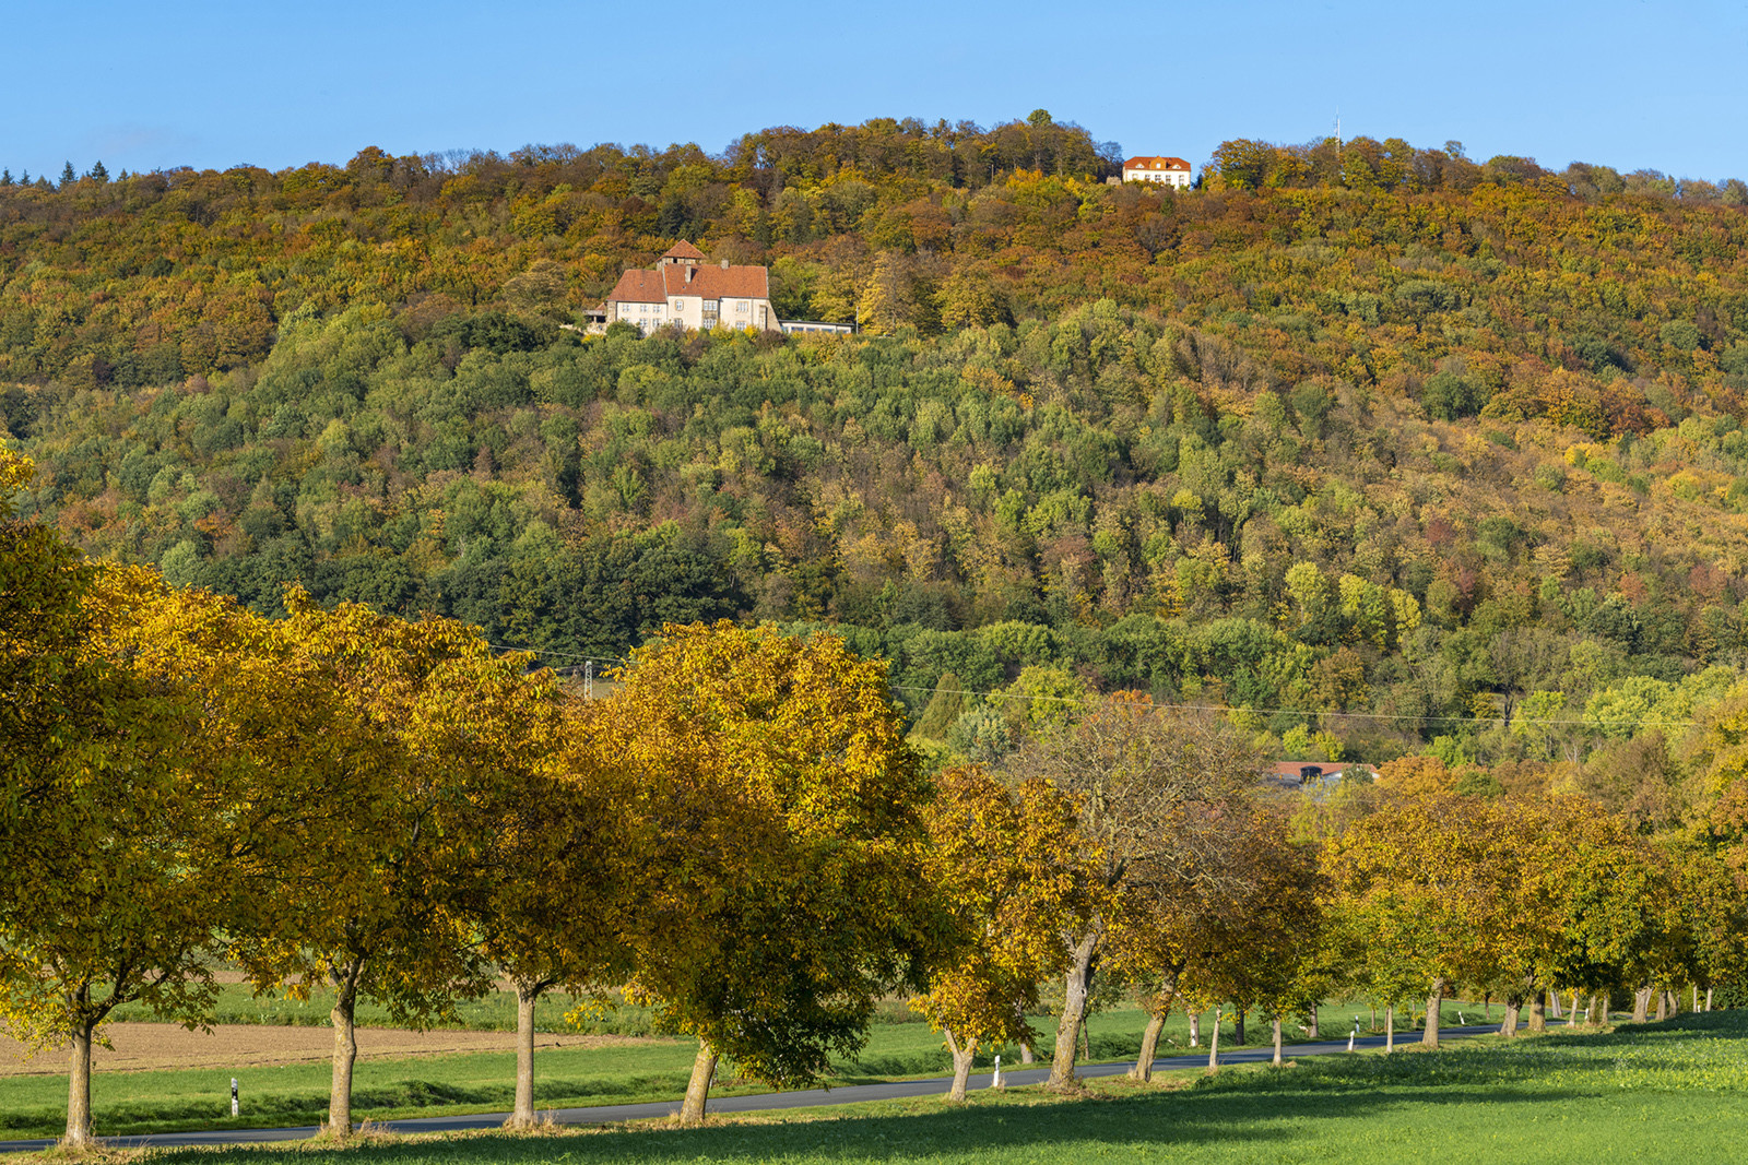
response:
M1458 1011L1472 1015L1468 1004L1447 1004L1446 1022ZM1363 1010L1344 1004L1323 1008L1325 1034L1344 1034ZM1495 1015L1498 1010L1495 1010ZM890 1018L898 1018L893 1013ZM1040 1020L1045 1039L1049 1020ZM1094 1013L1087 1024L1094 1060L1134 1055L1145 1020L1134 1010ZM1292 1034L1297 1034L1292 1032ZM1266 1024L1252 1018L1252 1043L1269 1037ZM1161 1041L1161 1055L1183 1050L1189 1043L1187 1022L1173 1017ZM1231 1024L1222 1025L1222 1044L1232 1043ZM535 1057L537 1104L570 1107L591 1104L629 1104L640 1100L678 1100L692 1067L696 1044L676 1039L642 1039L605 1048L556 1048ZM1017 1062L1016 1048L995 1048L1003 1064ZM860 1058L836 1065L832 1083L869 1083L907 1076L932 1076L949 1071L949 1057L940 1036L926 1024L876 1024ZM241 1081L243 1114L229 1116L231 1078ZM479 1051L406 1060L360 1060L355 1072L353 1111L358 1120L447 1113L489 1113L507 1109L514 1099L516 1057L509 1036L503 1051ZM757 1083L727 1083L713 1095L767 1092ZM329 1065L287 1064L278 1067L208 1067L192 1071L94 1072L91 1100L100 1135L170 1132L185 1128L248 1128L273 1125L315 1125L327 1116ZM65 1128L65 1076L0 1078L0 1139L52 1137Z

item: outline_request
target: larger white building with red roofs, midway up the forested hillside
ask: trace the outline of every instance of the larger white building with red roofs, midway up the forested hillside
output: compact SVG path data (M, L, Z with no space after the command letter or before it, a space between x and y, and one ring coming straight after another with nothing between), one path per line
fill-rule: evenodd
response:
M643 335L664 327L694 332L718 327L776 332L781 327L764 267L736 267L725 259L711 264L704 252L683 241L669 246L652 271L619 276L601 309L589 314L591 332L624 321Z

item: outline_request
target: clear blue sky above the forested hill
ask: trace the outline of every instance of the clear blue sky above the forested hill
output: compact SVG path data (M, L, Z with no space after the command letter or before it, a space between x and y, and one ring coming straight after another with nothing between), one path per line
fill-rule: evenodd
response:
M732 17L717 17L725 7ZM1748 0L549 3L7 0L0 166L280 169L1047 108L1201 166L1225 138L1402 136L1748 178Z

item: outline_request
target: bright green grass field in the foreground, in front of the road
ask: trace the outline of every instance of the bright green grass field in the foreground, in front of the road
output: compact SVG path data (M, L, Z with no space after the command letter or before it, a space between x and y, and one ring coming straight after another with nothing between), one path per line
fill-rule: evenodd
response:
M1099 1081L1086 1099L979 1092L741 1118L697 1130L365 1139L344 1149L152 1153L150 1165L535 1165L566 1162L1741 1162L1748 1020L1680 1017L1610 1034L1339 1055L1215 1079Z

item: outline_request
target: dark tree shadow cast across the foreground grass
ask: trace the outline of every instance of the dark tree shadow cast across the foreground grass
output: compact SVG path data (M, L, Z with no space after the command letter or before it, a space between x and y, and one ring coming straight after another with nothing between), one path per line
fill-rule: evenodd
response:
M1295 1072L1250 1076L1250 1086L1187 1088L1092 1097L1079 1102L1026 1104L1024 1097L1002 1097L967 1107L933 1107L916 1114L839 1116L771 1125L715 1125L704 1128L642 1128L559 1134L552 1137L479 1135L453 1141L406 1141L355 1144L348 1149L299 1151L299 1162L346 1160L371 1165L430 1165L435 1162L773 1162L773 1160L935 1160L953 1155L1002 1156L1026 1149L1030 1156L1052 1151L1063 1160L1092 1156L1101 1149L1171 1149L1269 1144L1302 1135L1308 1123L1358 1121L1404 1104L1474 1102L1470 1088L1391 1088L1388 1092L1304 1088ZM1561 1104L1580 1092L1486 1090L1491 1106ZM245 1151L253 1160L255 1151ZM154 1165L185 1162L217 1165L231 1153L170 1151L154 1155Z

